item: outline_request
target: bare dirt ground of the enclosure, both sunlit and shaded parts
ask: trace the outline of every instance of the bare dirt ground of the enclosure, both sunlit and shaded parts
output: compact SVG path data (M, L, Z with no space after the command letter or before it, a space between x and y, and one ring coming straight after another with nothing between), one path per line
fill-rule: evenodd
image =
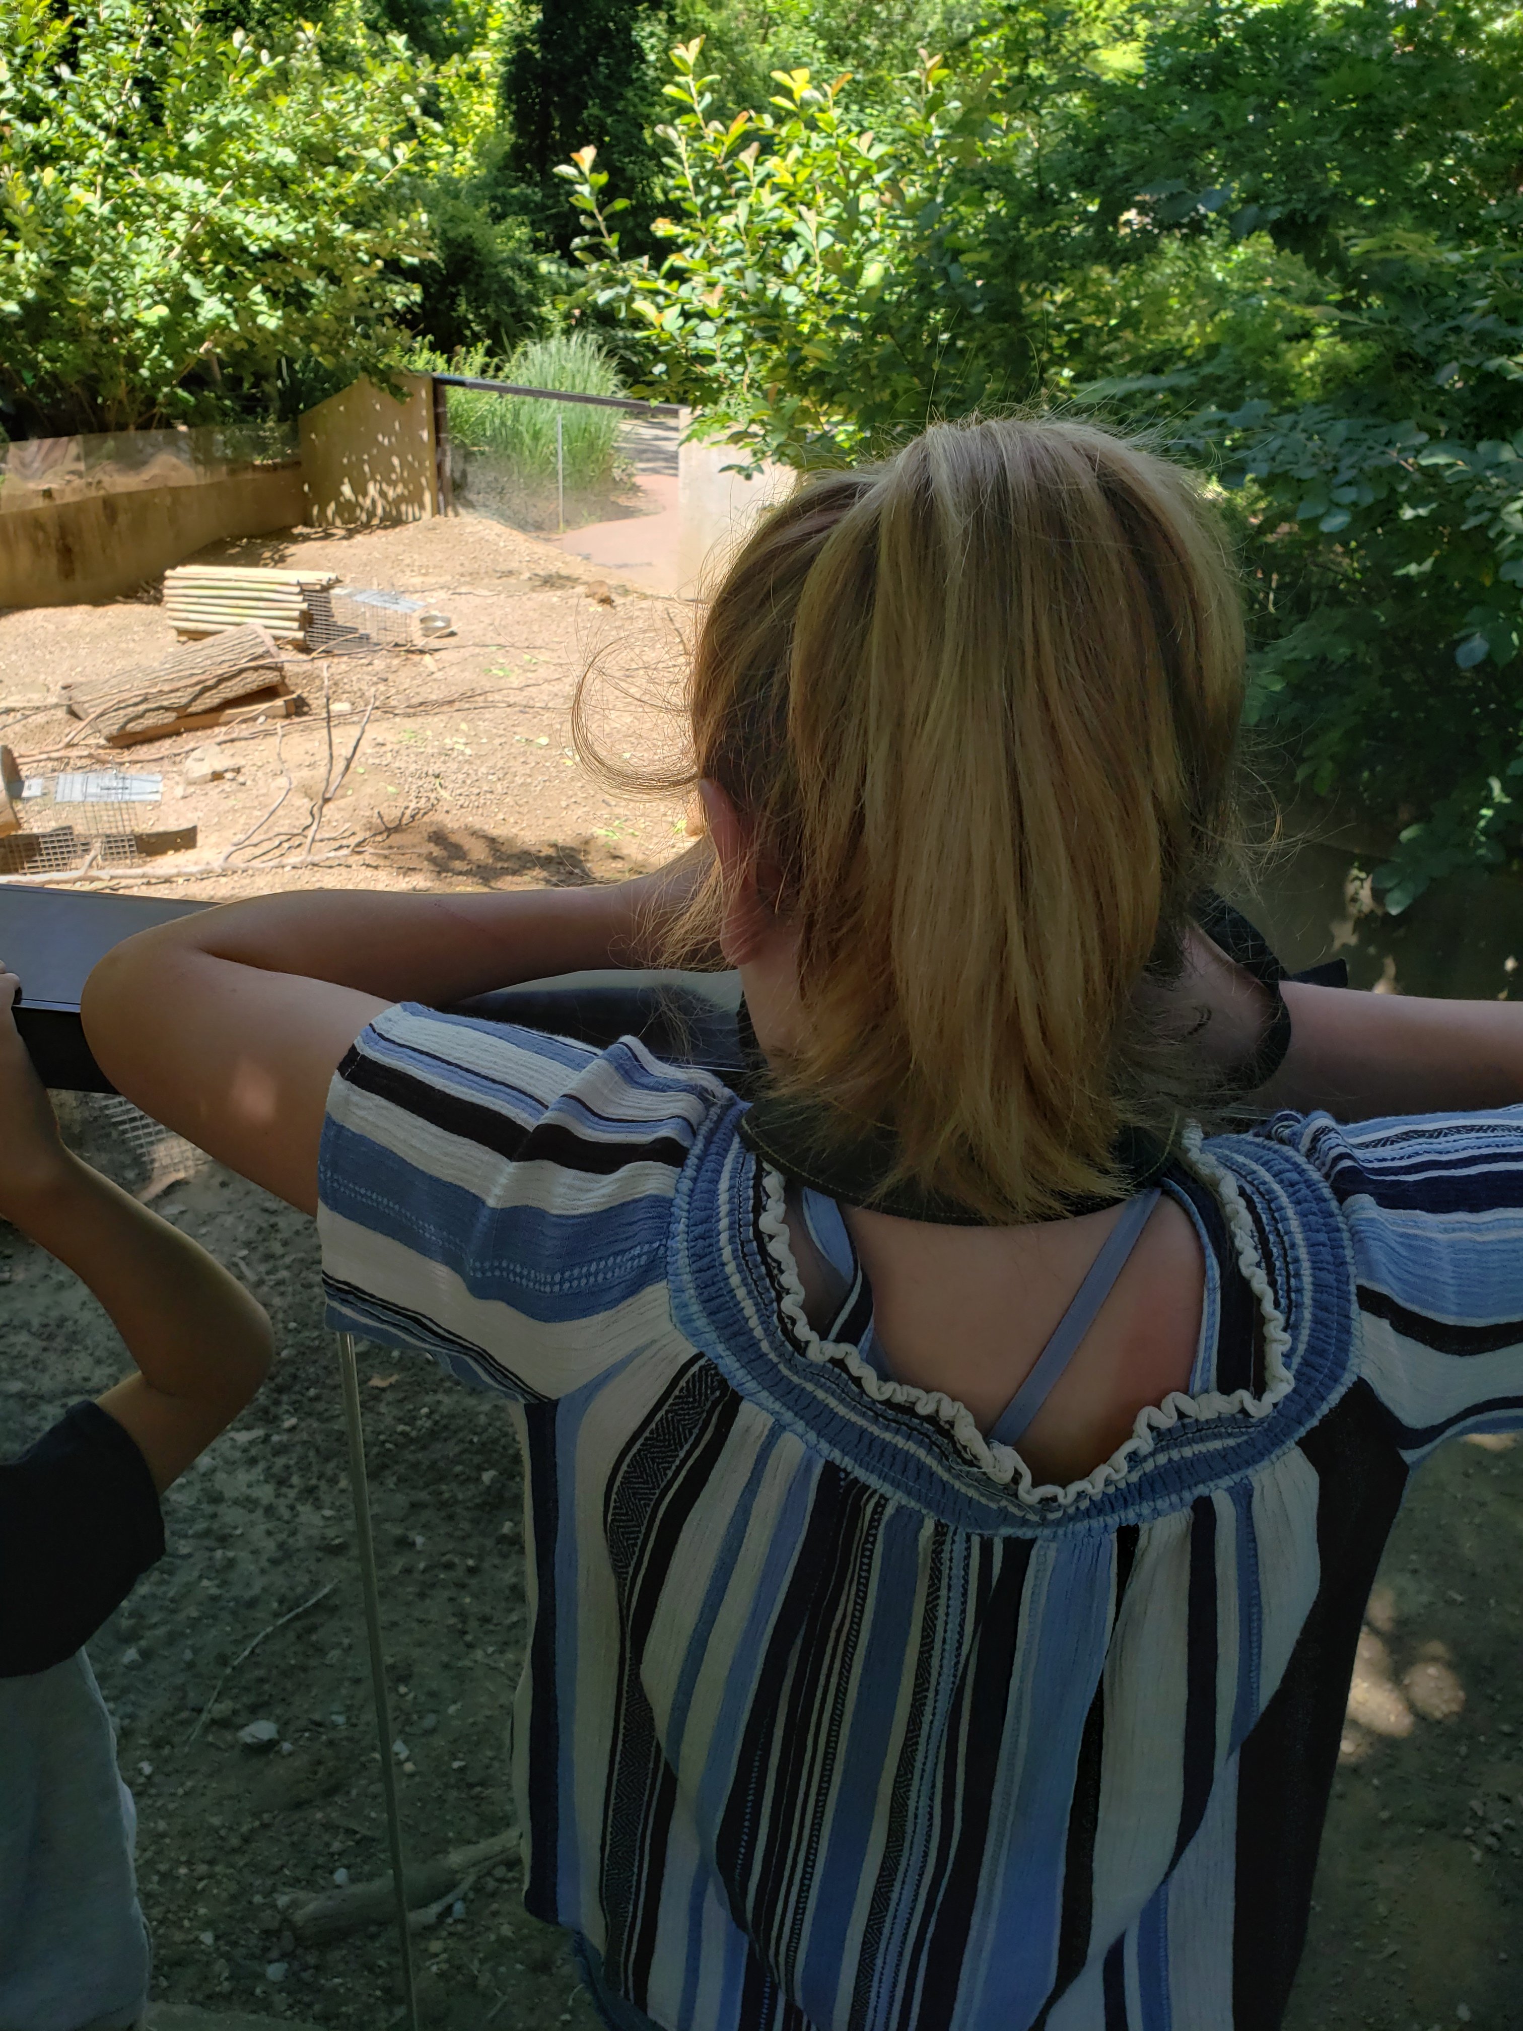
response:
M244 563L329 563L359 583L426 593L457 638L428 656L333 660L347 751L374 715L345 794L319 808L317 711L219 747L225 782L181 794L197 737L136 749L164 774L164 823L195 818L179 867L114 886L225 898L262 886L585 881L666 859L684 814L636 804L569 766L569 699L603 648L634 689L670 672L690 609L613 587L498 524L457 518L363 536L223 546ZM108 766L69 749L49 703L71 674L152 662L150 603L0 615L0 737L28 772ZM636 701L609 719L615 754L666 739ZM363 768L363 776L359 770ZM292 788L268 831L207 871ZM294 806L294 808L292 808ZM313 816L313 859L305 861ZM252 853L272 839L266 857ZM335 853L337 859L317 855ZM185 869L199 869L187 873ZM160 881L167 879L167 886ZM280 1359L258 1401L167 1501L169 1556L91 1645L140 1806L144 1907L158 1992L335 2031L400 2023L396 1948L370 1925L299 1936L305 1903L386 1866L333 1342L311 1223L207 1162L158 1170L110 1125L110 1103L63 1103L85 1154L150 1190L270 1310ZM116 1379L120 1345L49 1257L0 1227L0 1446L16 1450ZM512 1826L508 1716L522 1663L522 1487L502 1407L420 1361L361 1351L361 1399L392 1667L392 1757L410 1858ZM1456 1444L1413 1483L1371 1598L1322 1850L1292 2031L1523 2031L1523 1446ZM252 1645L252 1647L250 1647ZM270 1722L262 1747L240 1730ZM451 1885L453 1889L455 1885ZM422 2007L449 2031L585 2031L560 1940L528 1919L500 1864L416 1936Z

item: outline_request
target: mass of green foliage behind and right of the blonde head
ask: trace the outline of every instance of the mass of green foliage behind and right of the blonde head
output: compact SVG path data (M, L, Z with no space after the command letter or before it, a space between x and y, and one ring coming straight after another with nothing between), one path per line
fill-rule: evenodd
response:
M1387 904L1523 863L1517 12L1009 0L896 100L735 118L672 61L664 260L560 171L650 392L798 465L1032 400L1172 441L1241 528L1251 717Z

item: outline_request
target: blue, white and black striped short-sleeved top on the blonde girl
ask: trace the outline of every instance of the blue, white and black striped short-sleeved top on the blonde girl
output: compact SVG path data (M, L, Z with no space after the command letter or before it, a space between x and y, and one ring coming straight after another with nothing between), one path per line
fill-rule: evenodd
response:
M1267 2031L1407 1470L1523 1426L1523 1111L1196 1139L1192 1389L1070 1487L810 1330L741 1111L418 1007L333 1083L335 1326L524 1448L528 1907L666 2031Z

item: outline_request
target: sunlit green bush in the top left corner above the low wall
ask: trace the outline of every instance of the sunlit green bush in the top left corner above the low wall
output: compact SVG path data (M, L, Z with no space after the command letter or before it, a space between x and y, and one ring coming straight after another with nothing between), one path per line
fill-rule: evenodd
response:
M120 431L278 394L305 355L394 357L424 252L428 124L398 45L325 65L215 37L191 0L14 0L0 55L0 390L32 433Z

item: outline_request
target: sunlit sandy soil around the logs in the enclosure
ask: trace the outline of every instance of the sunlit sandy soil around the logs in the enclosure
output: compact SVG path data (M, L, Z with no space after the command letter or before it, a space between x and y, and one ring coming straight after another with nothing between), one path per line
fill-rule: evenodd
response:
M686 603L475 516L355 534L296 530L215 544L199 561L341 571L351 583L426 597L451 615L455 636L428 652L292 656L286 676L307 701L305 717L110 749L77 739L59 684L150 668L175 648L162 609L116 601L0 613L0 737L26 774L158 772L164 800L138 806L150 814L144 823L197 827L193 849L124 869L112 888L221 900L327 881L585 881L656 865L680 843L680 806L615 796L583 774L569 715L577 676L597 662L607 749L648 756L668 741L670 721L652 701L670 695L680 668ZM355 739L357 749L319 812L329 733L337 764ZM187 784L189 758L211 743L227 776ZM284 804L266 816L286 784Z

